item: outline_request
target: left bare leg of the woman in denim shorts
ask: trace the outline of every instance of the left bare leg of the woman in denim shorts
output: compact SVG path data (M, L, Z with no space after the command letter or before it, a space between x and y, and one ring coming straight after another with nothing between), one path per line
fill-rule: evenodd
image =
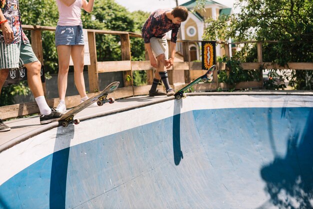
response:
M56 47L58 56L58 74L57 74L57 87L59 99L65 99L67 88L67 75L69 66L69 57L71 45L58 45Z

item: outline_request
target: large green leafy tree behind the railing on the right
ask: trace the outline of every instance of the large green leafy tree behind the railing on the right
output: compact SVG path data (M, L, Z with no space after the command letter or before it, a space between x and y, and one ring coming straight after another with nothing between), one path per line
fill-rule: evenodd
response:
M204 39L227 41L278 40L262 44L263 61L277 64L313 60L313 4L311 0L238 0L241 11L207 19ZM235 56L256 61L256 45L244 44ZM296 89L313 89L312 70L293 70L284 79ZM270 85L269 85L270 86ZM275 88L275 87L273 87Z

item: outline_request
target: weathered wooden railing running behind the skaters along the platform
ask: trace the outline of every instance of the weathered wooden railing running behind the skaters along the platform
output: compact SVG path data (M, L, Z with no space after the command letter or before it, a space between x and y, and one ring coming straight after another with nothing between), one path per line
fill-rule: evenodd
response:
M37 25L23 25L25 30L30 30L31 32L31 45L34 53L38 57L41 63L43 62L43 52L42 52L42 38L41 31L49 30L55 31L53 26L37 26ZM120 46L121 46L121 60L120 61L97 61L96 54L96 44L95 44L95 34L111 34L120 36ZM112 31L112 30L96 30L87 29L88 36L88 47L90 55L90 65L88 65L88 80L90 93L88 96L94 95L99 89L98 73L104 72L123 72L123 87L118 88L114 91L112 96L115 98L136 96L148 94L148 90L153 80L153 68L150 65L149 60L142 61L131 61L130 52L130 37L141 37L140 34L125 31ZM168 40L169 41L169 40ZM189 53L189 43L190 42L200 42L200 40L178 40L182 42L183 48L183 61L174 62L174 65L168 69L169 83L174 89L179 89L184 83L188 83L195 79L199 75L203 74L204 70L201 69L200 62L191 62ZM246 43L251 43L255 41L248 41ZM245 43L245 42L237 42ZM224 48L225 54L229 56L229 44L225 42L219 42ZM256 63L242 63L243 69L258 69L260 65L268 66L268 68L292 68L292 69L313 69L313 63L288 63L289 67L286 66L273 66L272 63L264 63L262 61L262 48L261 42L256 42L257 44L257 58ZM169 45L169 44L168 44ZM143 49L142 49L143 50ZM146 56L146 59L148 57ZM225 69L224 65L217 64L218 69ZM145 70L147 73L147 85L144 86L134 86L132 79L126 79L127 77L132 78L132 72L135 70ZM260 72L261 76L261 72ZM216 70L213 73L213 82L197 84L194 90L216 90L218 87L225 87L223 83L218 83ZM238 83L236 88L262 88L262 81L249 81ZM43 88L45 89L45 84L43 83ZM58 104L58 98L47 99L49 106L56 106ZM80 101L79 95L67 96L65 98L66 106L68 108L77 105ZM0 107L0 118L7 119L27 114L38 113L39 109L35 102L14 104L8 106Z

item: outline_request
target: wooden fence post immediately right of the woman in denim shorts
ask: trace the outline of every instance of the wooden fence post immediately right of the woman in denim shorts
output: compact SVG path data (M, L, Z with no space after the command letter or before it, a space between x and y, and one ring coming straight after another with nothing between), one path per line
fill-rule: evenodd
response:
M90 54L90 65L88 65L88 79L89 79L89 93L100 91L99 79L98 79L98 63L96 57L96 45L95 45L95 33L87 32L89 54Z

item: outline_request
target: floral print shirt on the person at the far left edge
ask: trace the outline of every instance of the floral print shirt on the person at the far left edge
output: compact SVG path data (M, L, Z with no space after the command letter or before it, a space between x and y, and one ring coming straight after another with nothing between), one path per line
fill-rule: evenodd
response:
M20 43L21 40L23 40L24 44L29 43L27 36L21 28L18 0L0 0L0 7L14 33L14 40L11 43ZM2 31L0 31L0 41L4 42Z

